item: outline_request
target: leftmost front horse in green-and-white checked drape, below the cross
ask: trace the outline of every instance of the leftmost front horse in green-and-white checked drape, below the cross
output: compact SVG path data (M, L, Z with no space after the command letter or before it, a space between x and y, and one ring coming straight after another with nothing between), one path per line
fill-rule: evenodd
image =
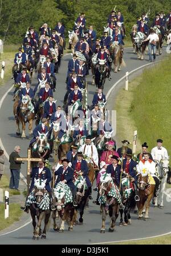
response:
M46 239L46 230L50 225L50 197L45 189L46 180L35 179L34 189L27 198L26 205L30 209L32 218L32 226L34 227L32 239L38 240L42 235L42 239ZM38 222L36 223L36 217ZM41 223L44 219L44 229L40 229Z

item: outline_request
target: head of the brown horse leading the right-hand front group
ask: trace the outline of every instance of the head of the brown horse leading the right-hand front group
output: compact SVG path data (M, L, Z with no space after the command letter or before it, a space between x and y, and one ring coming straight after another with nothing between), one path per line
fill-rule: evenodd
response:
M104 173L103 175L101 175L100 184L99 184L99 187L100 187L99 194L100 194L100 196L103 196L103 195L106 196L108 194L108 192L111 189L111 184L112 184L111 182L112 182L111 174Z

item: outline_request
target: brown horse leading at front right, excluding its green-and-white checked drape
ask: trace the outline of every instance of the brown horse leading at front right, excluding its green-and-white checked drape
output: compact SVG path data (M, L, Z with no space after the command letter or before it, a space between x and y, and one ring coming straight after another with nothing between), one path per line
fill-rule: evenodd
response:
M99 194L100 196L105 197L105 203L101 203L100 210L102 212L102 226L100 233L105 233L105 218L106 218L106 212L109 210L109 217L111 218L111 226L109 227L109 232L113 232L115 229L115 222L119 215L119 207L118 202L115 198L108 195L109 191L111 190L111 186L113 185L112 178L109 177L108 181L103 179L103 181L100 181L99 187Z

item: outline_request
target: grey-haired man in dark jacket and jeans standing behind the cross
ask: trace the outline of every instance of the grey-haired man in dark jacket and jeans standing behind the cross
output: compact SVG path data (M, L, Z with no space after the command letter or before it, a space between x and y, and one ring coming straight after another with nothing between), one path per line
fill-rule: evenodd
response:
M15 146L14 151L10 154L10 171L11 171L11 178L10 178L10 189L18 190L19 186L19 174L21 169L22 161L16 161L15 158L19 158L19 152L21 151L20 146ZM18 190L19 191L19 190Z

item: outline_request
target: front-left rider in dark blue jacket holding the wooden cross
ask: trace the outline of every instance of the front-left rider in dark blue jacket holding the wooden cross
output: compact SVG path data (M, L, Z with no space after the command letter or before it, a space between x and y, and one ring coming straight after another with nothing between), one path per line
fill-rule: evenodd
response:
M43 181L46 180L46 186L45 189L48 191L48 194L50 195L50 201L51 201L51 210L54 211L55 210L55 200L52 197L52 191L50 188L49 183L51 182L51 171L50 169L48 169L48 167L44 166L44 161L38 162L38 167L34 167L32 168L31 172L30 172L30 178L32 178L31 181L31 185L30 185L30 189L29 189L29 193L31 193L32 189L34 189L34 183L35 183L35 179L43 179ZM27 202L27 199L26 199ZM25 207L21 207L21 210L26 211L26 213L28 213L28 206Z

